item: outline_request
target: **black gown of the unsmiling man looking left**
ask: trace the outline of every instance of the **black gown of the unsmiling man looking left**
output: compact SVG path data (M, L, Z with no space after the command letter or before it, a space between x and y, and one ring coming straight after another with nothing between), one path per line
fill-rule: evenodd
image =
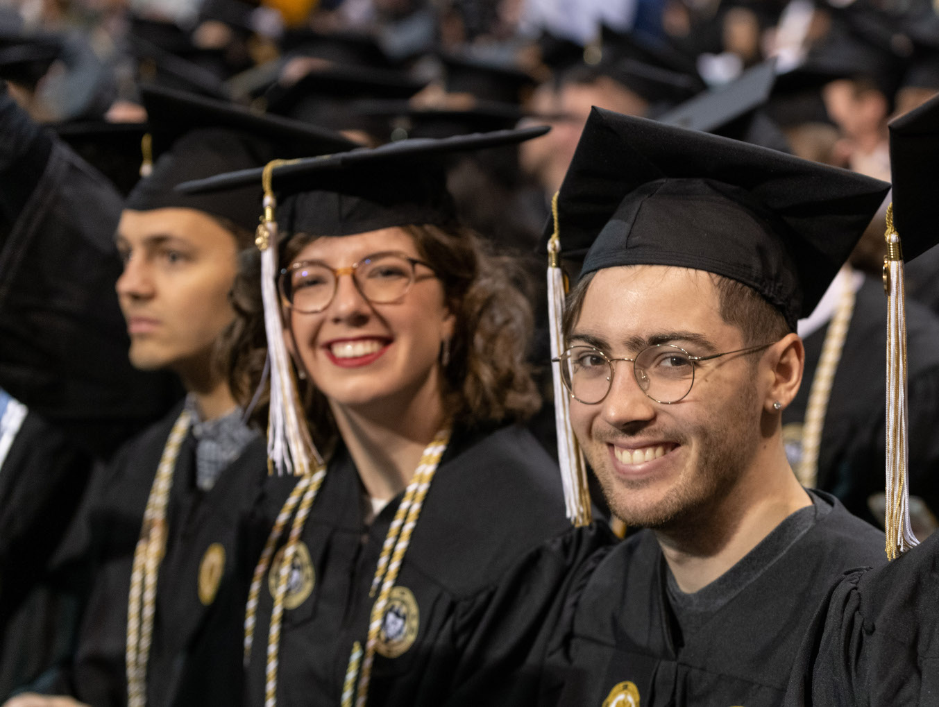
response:
M99 469L80 527L63 550L90 571L90 592L73 658L54 680L39 685L92 707L127 703L126 638L134 547L163 446L179 408L131 440L112 464ZM208 492L195 486L195 441L183 442L167 507L168 538L160 566L153 643L147 666L150 707L237 704L241 694L241 642L247 586L256 557L246 554L254 507L265 494L293 480L267 477L264 440L254 439L223 470ZM209 546L223 547L223 575L208 605L200 598L200 565ZM217 550L213 550L217 552Z

